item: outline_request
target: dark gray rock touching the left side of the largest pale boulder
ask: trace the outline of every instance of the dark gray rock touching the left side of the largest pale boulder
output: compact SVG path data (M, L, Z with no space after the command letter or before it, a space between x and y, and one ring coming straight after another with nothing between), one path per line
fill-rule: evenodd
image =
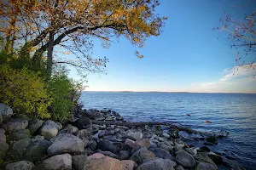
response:
M47 155L47 149L51 142L45 139L32 141L24 152L24 159L27 161L41 161Z

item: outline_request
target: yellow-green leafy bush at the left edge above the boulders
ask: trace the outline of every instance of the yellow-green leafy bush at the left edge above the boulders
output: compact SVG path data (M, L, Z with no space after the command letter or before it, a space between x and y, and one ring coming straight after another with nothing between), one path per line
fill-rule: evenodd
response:
M0 100L15 113L49 118L51 99L38 73L25 67L14 70L9 65L0 67Z

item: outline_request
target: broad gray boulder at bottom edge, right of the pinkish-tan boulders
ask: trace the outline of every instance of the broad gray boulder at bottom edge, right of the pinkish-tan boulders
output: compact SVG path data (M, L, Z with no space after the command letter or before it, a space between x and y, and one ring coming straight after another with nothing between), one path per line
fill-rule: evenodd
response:
M157 158L144 162L140 167L137 167L137 170L175 170L175 166L177 166L175 161Z

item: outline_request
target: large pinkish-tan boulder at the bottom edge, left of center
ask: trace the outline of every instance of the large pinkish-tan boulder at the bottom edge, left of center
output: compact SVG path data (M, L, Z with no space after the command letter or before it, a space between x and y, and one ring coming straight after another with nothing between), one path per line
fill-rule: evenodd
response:
M121 161L112 157L103 156L101 158L89 158L86 170L122 170Z

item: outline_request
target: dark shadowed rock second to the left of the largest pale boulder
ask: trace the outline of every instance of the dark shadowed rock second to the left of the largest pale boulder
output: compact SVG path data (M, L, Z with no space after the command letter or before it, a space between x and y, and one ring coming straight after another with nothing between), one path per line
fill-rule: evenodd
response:
M30 144L30 142L31 142L31 139L20 139L14 144L11 144L10 149L7 153L7 156L9 158L22 160L26 147L28 146L28 144Z

